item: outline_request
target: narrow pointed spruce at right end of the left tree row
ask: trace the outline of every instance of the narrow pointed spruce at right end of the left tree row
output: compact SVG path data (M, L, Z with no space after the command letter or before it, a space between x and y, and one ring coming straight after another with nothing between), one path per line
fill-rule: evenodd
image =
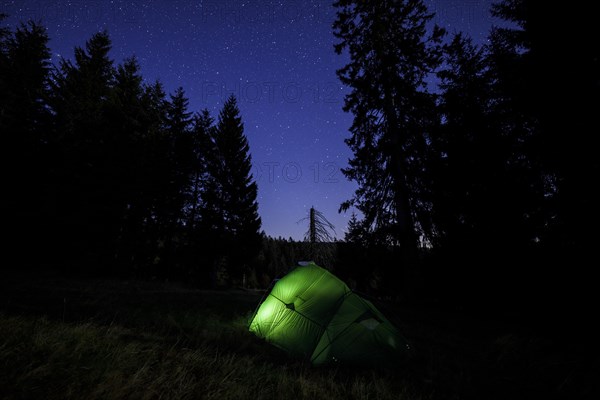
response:
M213 167L218 179L224 244L232 275L242 271L257 255L261 220L256 202L257 186L252 177L250 147L234 96L223 105L215 130L217 158Z

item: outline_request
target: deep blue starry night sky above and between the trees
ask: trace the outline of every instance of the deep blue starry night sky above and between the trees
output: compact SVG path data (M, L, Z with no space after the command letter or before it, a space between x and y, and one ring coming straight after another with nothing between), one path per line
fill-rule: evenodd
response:
M434 21L484 43L495 21L492 0L425 0ZM182 86L190 110L218 115L238 98L250 142L259 212L271 236L302 239L297 222L314 206L343 238L350 212L340 203L356 186L340 168L352 116L342 111L347 88L335 71L347 62L333 51L332 0L0 0L5 24L41 20L53 61L72 58L106 29L112 58L135 55L148 83Z

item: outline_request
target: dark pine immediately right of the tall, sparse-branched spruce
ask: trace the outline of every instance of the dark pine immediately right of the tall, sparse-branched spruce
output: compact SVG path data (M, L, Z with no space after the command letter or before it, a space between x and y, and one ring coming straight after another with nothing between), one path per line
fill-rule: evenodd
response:
M507 146L490 126L491 79L482 49L462 34L444 47L439 111L444 121L433 137L435 244L470 252L499 229ZM496 221L496 222L493 222ZM460 248L461 250L458 250ZM469 249L469 250L467 250Z

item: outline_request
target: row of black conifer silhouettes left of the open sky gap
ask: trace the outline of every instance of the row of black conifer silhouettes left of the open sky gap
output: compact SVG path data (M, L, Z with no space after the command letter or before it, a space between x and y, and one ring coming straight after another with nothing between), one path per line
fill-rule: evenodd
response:
M235 97L215 119L183 88L115 65L106 32L50 62L43 26L0 33L7 249L16 266L240 280L261 245ZM10 267L10 265L7 265Z

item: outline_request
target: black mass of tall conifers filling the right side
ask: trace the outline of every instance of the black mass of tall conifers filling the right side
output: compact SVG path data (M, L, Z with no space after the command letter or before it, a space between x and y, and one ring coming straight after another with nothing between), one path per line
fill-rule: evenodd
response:
M420 0L334 6L354 115L344 173L359 186L342 209L364 216L350 241L392 248L388 282L406 292L539 305L591 296L600 45L590 10L503 0L479 46L435 25Z

